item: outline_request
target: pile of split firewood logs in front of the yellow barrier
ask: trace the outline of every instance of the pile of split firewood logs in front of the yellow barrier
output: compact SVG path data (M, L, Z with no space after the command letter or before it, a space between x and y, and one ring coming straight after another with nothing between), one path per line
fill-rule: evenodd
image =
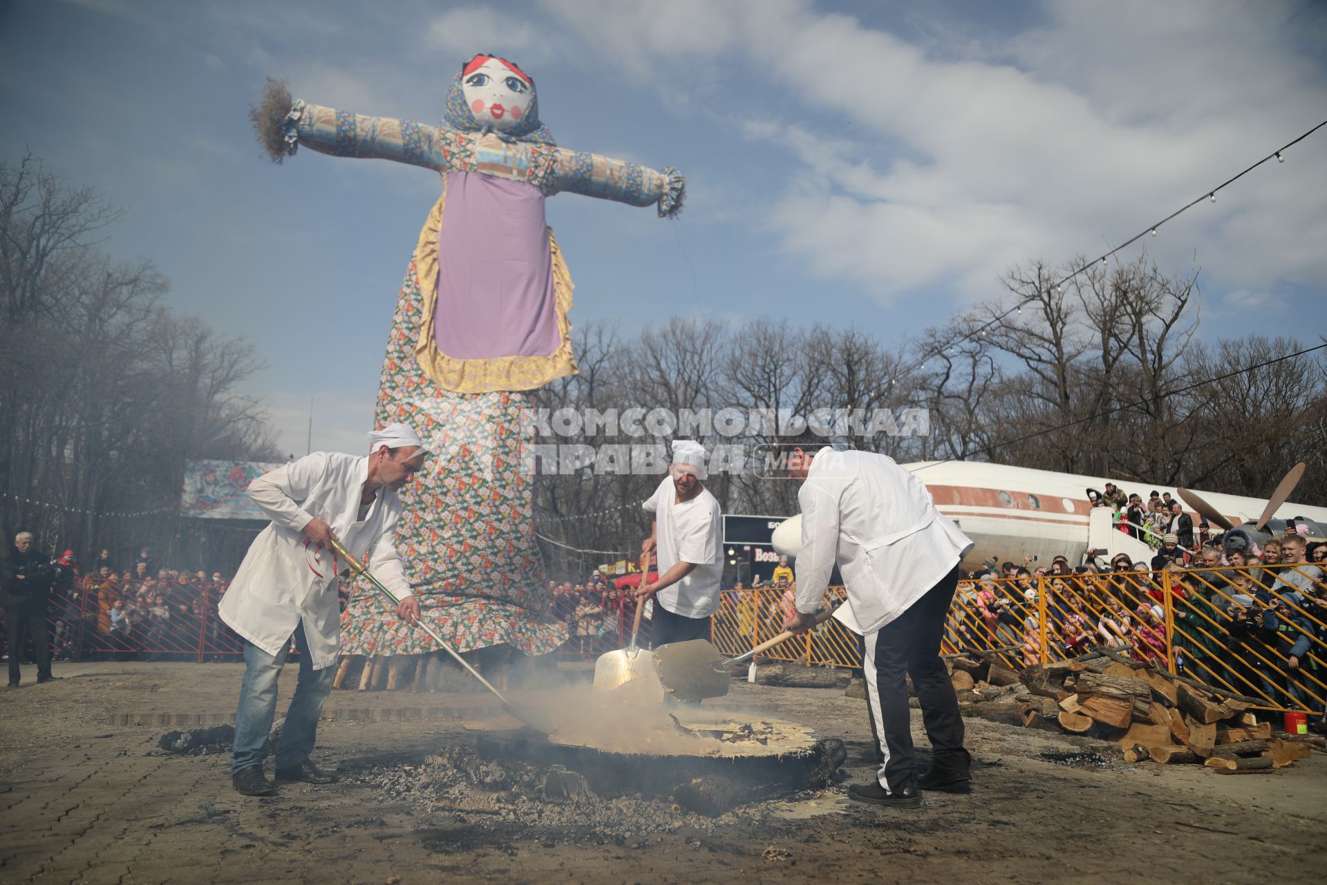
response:
M1201 763L1222 774L1271 771L1312 751L1314 740L1273 732L1254 698L1222 694L1113 651L1015 671L958 657L951 681L969 713L1120 744L1125 762Z

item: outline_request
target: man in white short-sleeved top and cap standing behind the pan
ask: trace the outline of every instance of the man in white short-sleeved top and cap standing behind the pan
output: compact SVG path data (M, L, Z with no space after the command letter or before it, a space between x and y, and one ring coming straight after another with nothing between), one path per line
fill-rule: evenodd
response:
M669 475L641 507L654 513L644 553L658 555L658 580L637 590L637 605L654 598L650 644L710 638L723 576L723 512L703 484L706 451L693 439L673 441Z

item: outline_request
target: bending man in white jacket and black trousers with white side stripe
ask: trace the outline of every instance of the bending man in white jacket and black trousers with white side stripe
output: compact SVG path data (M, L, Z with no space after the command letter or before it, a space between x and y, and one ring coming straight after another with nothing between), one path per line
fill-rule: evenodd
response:
M921 789L969 792L971 758L963 719L940 658L958 564L973 548L936 510L920 479L885 455L794 448L790 474L802 482L802 548L796 612L786 629L811 625L835 564L848 601L835 617L863 637L867 709L880 767L876 782L853 784L852 799L916 808ZM920 778L905 675L921 702L934 762Z

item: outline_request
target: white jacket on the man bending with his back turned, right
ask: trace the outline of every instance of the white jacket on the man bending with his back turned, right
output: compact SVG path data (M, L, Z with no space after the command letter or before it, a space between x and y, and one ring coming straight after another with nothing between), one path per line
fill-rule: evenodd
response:
M906 612L973 548L926 486L885 455L821 448L798 503L798 610L821 605L837 563L848 601L835 617L856 633Z

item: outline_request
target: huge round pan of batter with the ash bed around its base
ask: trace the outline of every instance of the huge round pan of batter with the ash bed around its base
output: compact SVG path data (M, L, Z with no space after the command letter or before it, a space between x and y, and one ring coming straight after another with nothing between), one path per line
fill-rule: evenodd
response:
M795 722L683 707L560 705L552 736L510 718L472 722L472 746L421 766L358 776L405 800L426 827L511 825L622 843L714 817L763 817L764 803L809 795L847 759L843 742Z

